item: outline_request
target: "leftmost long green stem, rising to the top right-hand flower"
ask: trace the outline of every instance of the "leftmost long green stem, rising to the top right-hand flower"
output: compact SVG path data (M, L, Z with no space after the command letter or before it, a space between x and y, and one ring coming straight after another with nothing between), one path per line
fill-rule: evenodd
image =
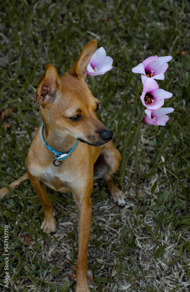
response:
M139 82L139 86L137 88L137 92L136 92L136 96L135 96L135 100L133 103L133 109L129 118L129 124L128 124L128 129L127 129L127 134L126 134L126 138L124 140L124 142L126 143L123 147L123 152L122 152L122 162L121 162L121 166L120 166L120 171L119 174L122 175L122 173L125 171L124 168L124 162L125 162L125 155L126 155L126 151L127 151L127 146L128 146L128 140L129 140L129 135L131 133L131 126L133 124L133 116L135 114L135 109L136 109L136 105L137 105L137 101L138 101L138 95L140 92L140 87L141 87L141 80Z

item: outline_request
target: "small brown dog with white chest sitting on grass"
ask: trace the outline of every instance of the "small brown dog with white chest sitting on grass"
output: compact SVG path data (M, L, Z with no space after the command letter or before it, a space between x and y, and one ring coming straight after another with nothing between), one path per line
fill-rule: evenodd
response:
M41 104L46 144L64 154L71 150L76 140L82 143L77 144L68 159L55 166L54 154L43 144L40 126L26 159L27 174L10 185L15 187L20 181L29 178L44 211L41 230L49 234L55 233L57 227L45 185L56 191L72 192L78 208L76 292L90 291L87 283L87 247L92 220L90 197L93 176L103 177L113 200L118 205L125 204L124 193L116 187L111 176L119 168L121 154L110 141L112 131L97 119L99 101L84 81L87 65L95 51L96 40L93 40L84 47L80 58L61 78L56 69L48 64L35 95ZM5 188L1 189L0 197L6 193Z

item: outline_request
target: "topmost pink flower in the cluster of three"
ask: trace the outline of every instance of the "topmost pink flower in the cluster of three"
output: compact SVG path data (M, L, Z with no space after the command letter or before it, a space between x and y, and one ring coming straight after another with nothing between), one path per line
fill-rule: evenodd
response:
M171 56L166 57L158 57L158 56L151 56L148 57L140 63L136 67L132 69L134 73L141 73L141 79L144 84L145 80L148 77L152 77L153 79L164 79L164 74L168 68L167 62L172 59Z

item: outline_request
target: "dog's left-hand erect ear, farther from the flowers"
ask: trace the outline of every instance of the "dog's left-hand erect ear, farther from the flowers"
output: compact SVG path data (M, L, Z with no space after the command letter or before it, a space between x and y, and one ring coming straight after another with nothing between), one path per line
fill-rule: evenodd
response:
M56 91L60 88L60 86L61 83L56 69L51 64L47 64L45 73L38 83L35 100L37 100L41 105L53 103Z

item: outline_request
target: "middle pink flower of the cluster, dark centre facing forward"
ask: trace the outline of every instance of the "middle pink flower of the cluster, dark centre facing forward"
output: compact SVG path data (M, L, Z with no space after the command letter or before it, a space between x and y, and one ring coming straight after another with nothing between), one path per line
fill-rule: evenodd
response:
M147 78L144 82L140 99L147 109L154 111L163 106L165 98L170 98L172 95L171 92L159 89L157 82L153 78Z

